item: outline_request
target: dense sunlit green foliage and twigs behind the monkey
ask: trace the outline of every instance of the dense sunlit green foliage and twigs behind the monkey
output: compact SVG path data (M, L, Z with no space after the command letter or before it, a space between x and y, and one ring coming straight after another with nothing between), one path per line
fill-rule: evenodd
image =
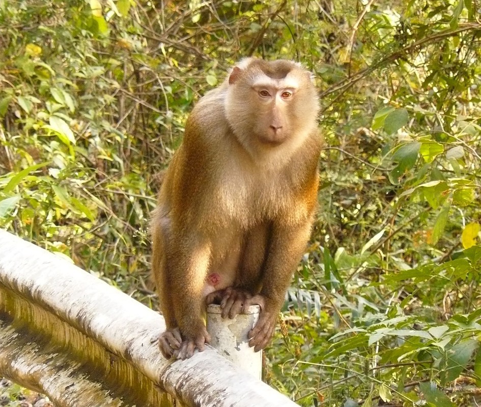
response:
M265 380L305 406L478 405L480 15L0 0L0 223L155 308L149 213L192 105L244 56L300 61L321 97L320 210Z

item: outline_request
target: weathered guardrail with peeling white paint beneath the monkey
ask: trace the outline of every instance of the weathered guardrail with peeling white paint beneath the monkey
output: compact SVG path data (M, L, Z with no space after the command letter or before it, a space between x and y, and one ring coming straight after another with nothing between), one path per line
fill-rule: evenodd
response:
M163 359L162 329L156 312L0 230L0 376L56 407L297 405L210 346Z

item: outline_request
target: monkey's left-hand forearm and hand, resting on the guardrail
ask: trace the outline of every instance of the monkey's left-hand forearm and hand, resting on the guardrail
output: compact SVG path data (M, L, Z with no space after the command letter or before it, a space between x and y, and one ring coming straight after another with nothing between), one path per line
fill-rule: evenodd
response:
M177 359L190 358L197 349L204 351L210 336L204 323L205 313L204 284L210 257L207 242L196 238L177 240L169 247L167 253L167 285L171 293L171 303L180 332L181 342L171 343L172 355ZM178 242L188 242L184 245ZM174 339L178 339L175 329L170 330Z

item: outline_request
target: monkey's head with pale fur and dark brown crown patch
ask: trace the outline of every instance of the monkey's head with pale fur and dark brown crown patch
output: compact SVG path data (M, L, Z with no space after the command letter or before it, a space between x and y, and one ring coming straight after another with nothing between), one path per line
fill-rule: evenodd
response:
M225 113L247 151L299 146L317 126L309 71L293 61L248 58L230 73Z

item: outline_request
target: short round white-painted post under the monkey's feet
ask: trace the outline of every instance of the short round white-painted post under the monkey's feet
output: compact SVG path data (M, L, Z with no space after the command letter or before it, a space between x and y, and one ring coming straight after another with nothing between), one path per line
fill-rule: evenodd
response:
M248 332L259 320L261 307L252 305L247 313L234 319L222 318L220 306L207 306L207 332L211 336L210 345L236 366L249 372L257 379L262 374L262 351L254 352L249 346Z

